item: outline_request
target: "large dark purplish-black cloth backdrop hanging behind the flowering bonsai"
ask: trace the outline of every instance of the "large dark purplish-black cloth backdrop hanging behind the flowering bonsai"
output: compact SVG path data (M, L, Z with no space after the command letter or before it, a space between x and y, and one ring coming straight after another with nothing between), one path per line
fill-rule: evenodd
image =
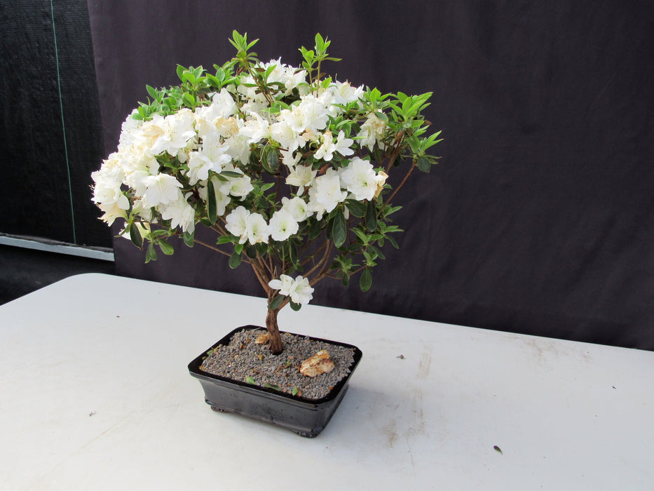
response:
M294 65L320 32L343 58L325 67L338 79L434 91L442 163L401 191L400 251L366 294L323 282L313 303L654 349L650 1L88 6L107 153L146 83L231 58L232 29ZM250 270L197 247L151 264L114 248L120 274L261 295Z

